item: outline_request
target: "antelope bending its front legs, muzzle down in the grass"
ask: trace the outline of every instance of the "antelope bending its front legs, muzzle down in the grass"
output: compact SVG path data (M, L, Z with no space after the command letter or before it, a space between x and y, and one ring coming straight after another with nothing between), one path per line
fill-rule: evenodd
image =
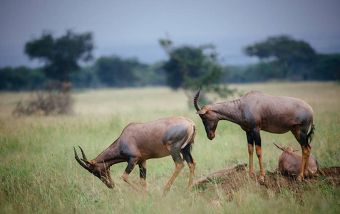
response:
M140 183L145 188L146 160L171 155L173 161L175 161L175 173L173 173L165 186L164 194L166 194L184 167L182 156L187 161L190 169L187 190L191 190L196 162L190 152L195 135L195 123L188 118L179 116L163 118L149 123L130 123L124 128L119 138L100 153L97 158L91 161L88 160L83 149L81 149L82 162L78 158L76 148L74 148L74 154L76 161L83 168L101 179L108 188L115 187L115 183L113 183L110 176L110 166L115 163L128 162L128 166L123 173L123 180L135 190L140 190L140 188L128 179L128 175L136 164L140 168ZM182 156L180 153L182 153Z

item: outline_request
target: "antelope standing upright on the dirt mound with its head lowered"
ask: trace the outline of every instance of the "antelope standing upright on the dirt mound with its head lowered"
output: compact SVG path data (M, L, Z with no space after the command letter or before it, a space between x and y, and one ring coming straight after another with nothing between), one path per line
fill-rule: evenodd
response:
M286 133L291 131L302 147L302 166L299 170L297 183L308 173L309 142L314 136L313 110L298 98L284 96L268 96L261 91L249 91L242 98L225 103L215 103L200 108L198 98L200 88L194 98L194 105L200 115L207 132L207 138L215 138L217 123L227 120L237 123L247 133L249 153L249 175L253 173L254 143L259 159L259 183L264 182L262 164L260 130L269 133ZM311 130L308 133L309 126Z

